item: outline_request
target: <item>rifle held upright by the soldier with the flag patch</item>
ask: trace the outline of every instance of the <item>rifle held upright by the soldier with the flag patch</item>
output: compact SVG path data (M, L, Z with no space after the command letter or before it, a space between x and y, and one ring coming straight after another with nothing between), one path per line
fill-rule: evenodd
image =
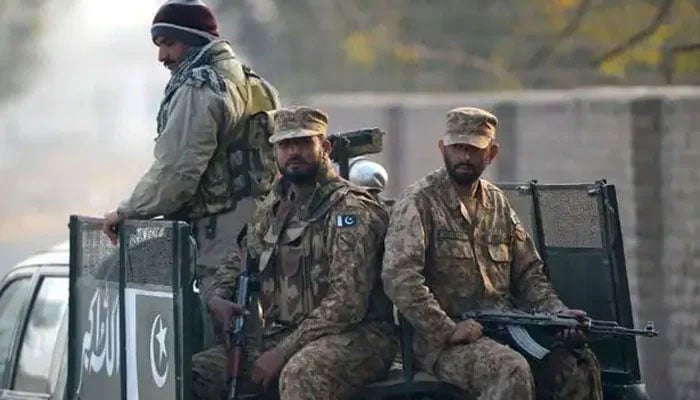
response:
M243 349L245 348L245 311L251 304L253 294L260 288L257 276L253 272L256 270L256 267L248 251L245 252L241 270L242 272L238 275L238 280L236 282L236 303L243 307L244 312L233 319L233 326L229 336L231 348L228 349L229 379L228 394L226 395L227 400L238 400L240 397L238 393L238 379L241 373Z

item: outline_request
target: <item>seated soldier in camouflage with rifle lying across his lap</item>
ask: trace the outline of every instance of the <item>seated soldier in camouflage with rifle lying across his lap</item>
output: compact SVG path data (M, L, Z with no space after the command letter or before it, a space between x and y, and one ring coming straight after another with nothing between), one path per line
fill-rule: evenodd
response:
M439 141L444 167L409 186L393 206L382 279L415 327L419 365L478 399L600 399L600 368L579 331L544 362L528 361L467 310L585 315L560 301L533 240L505 194L485 179L498 152L497 118L461 107Z

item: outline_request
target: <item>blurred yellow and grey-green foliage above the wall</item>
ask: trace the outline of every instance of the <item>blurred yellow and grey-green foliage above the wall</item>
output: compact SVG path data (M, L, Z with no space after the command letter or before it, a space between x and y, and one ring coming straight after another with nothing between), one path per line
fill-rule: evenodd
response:
M700 0L210 3L253 67L296 94L700 82Z

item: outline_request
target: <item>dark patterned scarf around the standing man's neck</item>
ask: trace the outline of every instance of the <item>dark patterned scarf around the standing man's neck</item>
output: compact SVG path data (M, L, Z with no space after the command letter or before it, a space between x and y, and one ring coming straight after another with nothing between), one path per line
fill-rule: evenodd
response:
M163 132L170 115L170 101L175 92L186 82L195 81L207 85L216 94L226 91L226 83L219 72L212 67L212 61L221 59L228 51L224 40L216 40L204 47L192 47L170 77L165 86L165 96L158 110L158 135ZM233 57L233 56L232 56Z

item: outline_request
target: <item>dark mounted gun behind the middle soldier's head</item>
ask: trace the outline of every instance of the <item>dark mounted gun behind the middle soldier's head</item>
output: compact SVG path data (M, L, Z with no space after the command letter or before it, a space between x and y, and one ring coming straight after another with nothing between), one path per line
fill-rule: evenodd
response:
M328 135L328 140L333 145L331 160L338 163L340 176L348 178L351 158L381 152L385 134L379 128L363 128Z

